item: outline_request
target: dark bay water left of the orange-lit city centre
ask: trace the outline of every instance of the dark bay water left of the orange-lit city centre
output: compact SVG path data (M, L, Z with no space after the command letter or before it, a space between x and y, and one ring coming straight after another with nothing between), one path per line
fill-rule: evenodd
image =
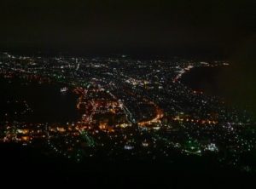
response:
M24 104L15 103L26 100L33 112L20 115L20 121L32 123L67 123L79 117L76 110L78 96L67 92L61 94L61 85L49 83L27 83L20 79L0 78L0 117L6 112L25 109ZM8 103L9 102L9 103ZM10 107L11 106L11 107ZM19 107L17 107L19 106ZM21 106L21 107L20 107ZM14 109L14 110L9 110ZM24 120L22 120L24 119Z

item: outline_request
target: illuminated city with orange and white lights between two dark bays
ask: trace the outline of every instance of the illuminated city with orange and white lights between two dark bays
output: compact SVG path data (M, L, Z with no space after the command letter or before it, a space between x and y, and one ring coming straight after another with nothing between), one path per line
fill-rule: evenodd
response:
M212 156L224 166L255 173L255 167L241 161L256 152L252 115L180 82L192 68L230 64L2 53L5 83L47 84L62 97L73 94L78 117L65 123L30 122L34 110L29 99L7 99L0 142L42 147L49 156L77 163L97 157L169 161L174 152Z

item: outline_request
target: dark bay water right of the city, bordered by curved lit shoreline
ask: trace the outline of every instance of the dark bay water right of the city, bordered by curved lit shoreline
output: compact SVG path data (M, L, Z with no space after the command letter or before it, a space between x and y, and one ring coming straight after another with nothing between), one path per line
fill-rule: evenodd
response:
M222 98L232 106L250 110L256 117L256 87L253 77L236 66L195 67L181 78L190 89Z

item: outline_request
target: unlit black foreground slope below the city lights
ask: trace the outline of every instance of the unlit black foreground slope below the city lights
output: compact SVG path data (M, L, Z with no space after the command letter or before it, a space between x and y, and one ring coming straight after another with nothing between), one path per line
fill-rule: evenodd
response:
M31 180L42 186L250 186L253 175L219 167L210 158L179 156L176 163L160 161L108 161L85 159L74 163L62 157L50 157L30 147L0 145L3 183L9 186ZM17 182L10 182L17 180ZM186 181L185 181L186 180Z

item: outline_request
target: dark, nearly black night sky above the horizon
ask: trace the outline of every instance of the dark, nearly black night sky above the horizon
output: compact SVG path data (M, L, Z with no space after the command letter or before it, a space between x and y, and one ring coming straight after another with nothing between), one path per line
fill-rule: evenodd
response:
M230 54L255 34L256 3L1 0L1 49Z

